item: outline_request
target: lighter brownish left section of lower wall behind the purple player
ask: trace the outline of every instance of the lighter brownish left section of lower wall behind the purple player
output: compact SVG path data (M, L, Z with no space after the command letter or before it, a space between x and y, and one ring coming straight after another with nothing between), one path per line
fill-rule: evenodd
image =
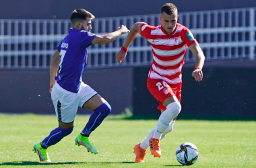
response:
M86 69L84 83L90 85L120 114L132 105L132 68ZM0 71L0 112L55 114L49 93L49 71ZM78 114L90 110L78 109Z

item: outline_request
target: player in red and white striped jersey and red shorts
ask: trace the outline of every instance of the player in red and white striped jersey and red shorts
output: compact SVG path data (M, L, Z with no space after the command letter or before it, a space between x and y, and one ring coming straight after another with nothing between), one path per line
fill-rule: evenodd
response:
M195 70L192 76L196 81L203 79L203 62L205 56L193 34L185 26L178 24L178 10L172 3L166 3L161 8L160 26L149 26L137 22L131 28L125 43L117 53L119 63L125 58L129 45L141 34L152 46L153 62L148 75L148 89L158 100L161 115L148 136L134 146L135 162L144 162L146 150L155 157L161 157L160 140L173 129L177 115L181 112L181 69L184 65L184 55L187 46L195 55Z

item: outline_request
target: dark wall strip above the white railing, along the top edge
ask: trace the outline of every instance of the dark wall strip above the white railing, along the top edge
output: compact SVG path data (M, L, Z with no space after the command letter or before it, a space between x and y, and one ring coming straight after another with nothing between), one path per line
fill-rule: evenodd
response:
M84 8L96 17L113 17L122 15L144 15L160 13L165 3L174 3L179 11L205 11L255 7L255 0L8 0L1 1L0 19L69 19L73 9Z

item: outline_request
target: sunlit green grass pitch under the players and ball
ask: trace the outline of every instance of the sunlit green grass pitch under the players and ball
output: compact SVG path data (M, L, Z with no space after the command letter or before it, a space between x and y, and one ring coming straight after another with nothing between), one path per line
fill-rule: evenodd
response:
M147 136L156 120L122 120L108 116L90 136L99 153L92 155L84 146L75 146L75 137L88 116L77 116L74 130L48 149L52 163L39 163L33 153L40 142L56 128L55 116L0 114L1 167L180 167L177 147L191 142L199 149L199 159L191 167L255 167L256 122L177 120L174 131L161 142L162 157L148 149L145 163L134 163L133 146Z

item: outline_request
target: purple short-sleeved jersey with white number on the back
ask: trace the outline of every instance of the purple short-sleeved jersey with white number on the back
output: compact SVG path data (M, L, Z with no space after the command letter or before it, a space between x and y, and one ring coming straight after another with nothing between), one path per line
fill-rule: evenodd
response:
M82 73L87 62L87 48L92 45L95 34L84 30L73 30L65 36L57 46L61 60L59 62L59 77L57 83L67 91L77 93L82 82Z

